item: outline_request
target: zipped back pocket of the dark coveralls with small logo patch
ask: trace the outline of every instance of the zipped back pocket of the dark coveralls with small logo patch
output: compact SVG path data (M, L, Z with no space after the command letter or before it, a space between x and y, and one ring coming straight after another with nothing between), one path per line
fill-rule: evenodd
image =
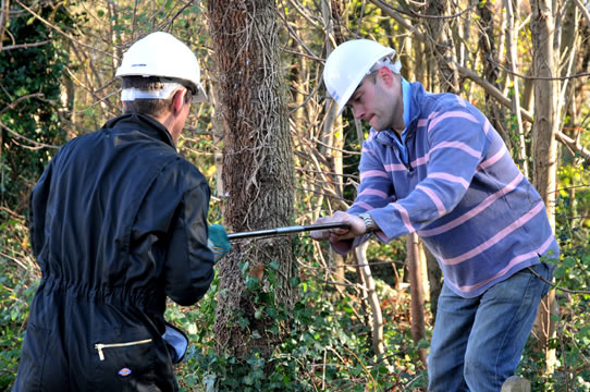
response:
M151 338L125 333L118 341L97 342L93 350L97 390L159 391L155 384L155 353Z

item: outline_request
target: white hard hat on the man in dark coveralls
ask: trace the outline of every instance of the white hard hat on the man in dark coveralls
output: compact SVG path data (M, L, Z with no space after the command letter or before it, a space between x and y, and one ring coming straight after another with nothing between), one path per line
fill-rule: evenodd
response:
M207 99L200 84L197 57L186 45L169 33L151 33L133 44L123 54L123 61L115 76L160 76L184 79L193 85L193 102Z

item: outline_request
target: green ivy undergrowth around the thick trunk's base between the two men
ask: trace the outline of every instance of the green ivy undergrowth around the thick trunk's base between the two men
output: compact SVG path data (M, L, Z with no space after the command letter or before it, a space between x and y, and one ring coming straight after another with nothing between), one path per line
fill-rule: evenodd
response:
M306 247L305 242L302 245ZM266 279L272 281L275 278L269 273ZM261 311L278 322L287 319L285 309L272 305L269 293L261 290L256 279L245 273L244 280L257 297ZM169 310L169 319L172 315L180 316L175 321L195 332L192 339L199 346L190 350L180 369L183 388L197 391L382 391L389 388L409 390L410 384L411 388L425 387L423 367L416 366L417 354L409 343L409 323L402 324L402 329L395 322L386 326L385 345L395 354L377 358L371 348L370 331L358 318L364 310L356 309L361 302L354 290L340 296L335 290L318 284L311 275L304 281L297 279L293 284L298 285L300 297L292 311L292 332L268 359L256 352L244 359L217 354L210 333L206 333L205 340L202 334L212 326L211 318L199 322L197 316L197 331L192 327L194 320L180 316L182 311L173 306L175 310ZM222 298L217 291L217 281L201 302L200 310L214 311L216 297ZM394 306L385 307L385 317L403 318L394 315L397 310ZM246 318L238 320L242 328L248 328Z

